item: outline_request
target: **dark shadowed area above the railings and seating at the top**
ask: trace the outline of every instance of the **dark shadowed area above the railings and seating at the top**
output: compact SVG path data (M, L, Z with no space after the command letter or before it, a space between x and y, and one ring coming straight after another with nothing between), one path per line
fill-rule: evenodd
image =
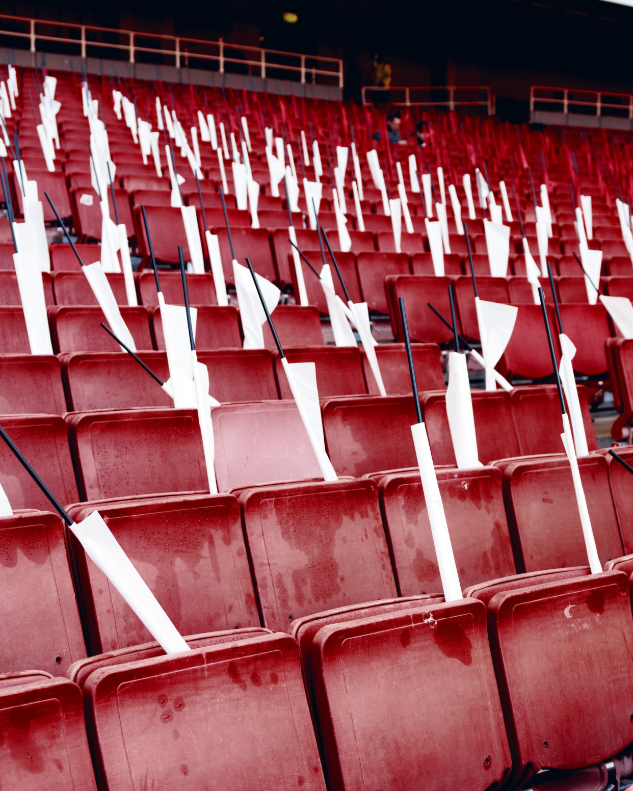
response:
M284 11L298 22L283 22ZM381 51L393 85L491 85L498 114L517 120L527 117L530 85L633 92L633 8L601 0L62 0L6 3L2 12L343 58L346 97L357 99L370 55Z

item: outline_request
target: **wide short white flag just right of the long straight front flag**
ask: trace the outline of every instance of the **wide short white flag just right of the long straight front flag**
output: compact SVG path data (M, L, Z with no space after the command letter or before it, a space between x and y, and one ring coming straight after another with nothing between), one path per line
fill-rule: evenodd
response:
M468 361L464 354L449 352L449 384L446 388L446 416L457 468L482 467L477 451L475 418L468 380Z

